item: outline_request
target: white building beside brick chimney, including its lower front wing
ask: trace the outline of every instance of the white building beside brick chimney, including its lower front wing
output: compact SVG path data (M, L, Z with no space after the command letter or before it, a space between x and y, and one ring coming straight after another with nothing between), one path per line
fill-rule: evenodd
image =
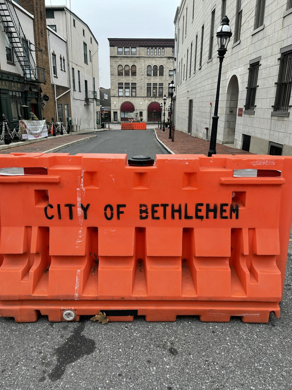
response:
M61 113L63 118L66 117L65 107L69 104L70 116L77 118L77 121L81 119L80 129L97 128L100 111L98 42L88 25L65 6L47 6L46 24L51 39L55 39L58 34L67 41L66 53L62 51L60 40L57 43L55 39L56 47L60 46L58 51L49 48L51 94L55 94L56 87L58 117ZM65 85L65 74L68 85ZM60 76L62 83L59 82Z

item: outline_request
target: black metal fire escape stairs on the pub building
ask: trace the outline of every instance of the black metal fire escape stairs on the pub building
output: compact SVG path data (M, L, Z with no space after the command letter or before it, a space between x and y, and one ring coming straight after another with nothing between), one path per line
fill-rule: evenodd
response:
M0 0L0 21L28 81L46 83L44 67L36 65L11 0ZM33 45L35 46L35 45ZM41 49L35 48L42 52Z

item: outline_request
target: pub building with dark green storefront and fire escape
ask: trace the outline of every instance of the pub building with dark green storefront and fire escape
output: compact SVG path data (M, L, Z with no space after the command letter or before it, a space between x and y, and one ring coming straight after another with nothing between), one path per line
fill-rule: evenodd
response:
M0 115L12 127L17 126L19 115L29 119L33 112L42 118L42 90L49 75L42 61L45 53L35 42L32 10L21 3L0 2Z

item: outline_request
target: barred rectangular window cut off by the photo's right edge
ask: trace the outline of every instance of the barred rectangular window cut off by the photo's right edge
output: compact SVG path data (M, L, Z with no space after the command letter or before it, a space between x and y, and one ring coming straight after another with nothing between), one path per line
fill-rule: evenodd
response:
M292 49L281 52L274 111L288 112L292 87Z

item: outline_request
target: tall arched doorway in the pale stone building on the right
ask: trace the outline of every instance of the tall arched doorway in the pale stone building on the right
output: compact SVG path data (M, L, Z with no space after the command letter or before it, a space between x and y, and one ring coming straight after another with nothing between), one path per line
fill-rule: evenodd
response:
M225 122L223 129L223 144L234 144L237 102L238 79L234 74L229 81L226 94Z

